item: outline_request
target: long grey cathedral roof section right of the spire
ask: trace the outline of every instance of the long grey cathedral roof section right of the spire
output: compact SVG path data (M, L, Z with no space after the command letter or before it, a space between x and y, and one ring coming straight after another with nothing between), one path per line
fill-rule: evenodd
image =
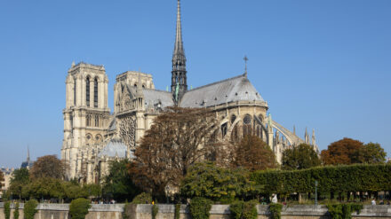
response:
M247 76L241 74L188 90L181 98L180 106L208 107L243 100L264 101Z

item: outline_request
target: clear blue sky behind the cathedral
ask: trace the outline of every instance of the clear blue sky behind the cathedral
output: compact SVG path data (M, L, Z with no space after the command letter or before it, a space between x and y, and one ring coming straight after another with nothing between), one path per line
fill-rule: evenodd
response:
M0 1L0 166L60 154L72 61L171 79L176 0ZM391 155L391 1L182 0L188 84L243 74L273 119L321 149L342 137Z

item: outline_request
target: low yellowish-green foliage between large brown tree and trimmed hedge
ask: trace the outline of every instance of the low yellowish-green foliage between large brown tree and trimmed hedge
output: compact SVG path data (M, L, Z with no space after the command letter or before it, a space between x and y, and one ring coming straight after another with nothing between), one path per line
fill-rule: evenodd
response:
M180 192L188 198L204 197L212 200L234 200L235 197L256 191L250 173L243 168L219 168L212 163L197 163L189 168Z

